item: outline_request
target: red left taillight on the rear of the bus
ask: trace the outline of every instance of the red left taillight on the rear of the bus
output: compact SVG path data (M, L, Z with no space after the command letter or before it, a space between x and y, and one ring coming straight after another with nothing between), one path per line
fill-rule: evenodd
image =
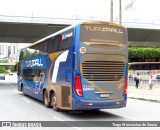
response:
M75 83L74 83L74 90L76 91L76 94L80 97L82 97L82 84L81 84L81 78L79 75L76 75Z

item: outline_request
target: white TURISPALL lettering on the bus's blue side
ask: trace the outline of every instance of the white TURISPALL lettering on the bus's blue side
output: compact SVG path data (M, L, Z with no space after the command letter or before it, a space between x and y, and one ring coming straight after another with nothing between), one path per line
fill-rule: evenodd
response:
M43 66L41 59L35 59L35 60L28 60L26 61L27 67L34 67L34 66Z

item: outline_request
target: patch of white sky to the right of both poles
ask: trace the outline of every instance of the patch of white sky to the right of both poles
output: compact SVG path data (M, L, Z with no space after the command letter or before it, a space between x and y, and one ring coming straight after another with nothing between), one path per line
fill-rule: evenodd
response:
M124 2L124 0L122 0ZM160 0L125 0L123 8L123 17L128 20L140 19L143 22L150 22L155 20L160 20ZM125 7L132 3L133 6L127 10Z

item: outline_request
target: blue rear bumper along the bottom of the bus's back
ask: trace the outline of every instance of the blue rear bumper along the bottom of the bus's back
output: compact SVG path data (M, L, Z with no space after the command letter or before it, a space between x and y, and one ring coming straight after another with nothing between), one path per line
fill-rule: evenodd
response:
M80 100L75 102L73 110L92 110L122 108L126 106L126 100L116 99L107 101Z

